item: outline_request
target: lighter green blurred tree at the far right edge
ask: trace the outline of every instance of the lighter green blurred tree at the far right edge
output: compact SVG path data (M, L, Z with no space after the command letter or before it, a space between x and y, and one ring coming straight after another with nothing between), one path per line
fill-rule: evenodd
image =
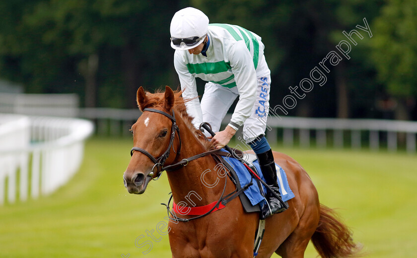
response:
M387 0L373 26L378 79L397 99L396 119L409 120L417 96L417 2Z

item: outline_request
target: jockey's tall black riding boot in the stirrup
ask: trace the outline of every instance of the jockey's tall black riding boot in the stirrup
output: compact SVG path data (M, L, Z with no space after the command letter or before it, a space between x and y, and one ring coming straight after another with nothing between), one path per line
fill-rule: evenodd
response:
M275 167L275 161L274 156L272 155L272 150L270 149L269 151L257 154L256 156L258 157L262 174L264 174L265 182L282 200L281 195L279 193L279 185L277 183L277 169ZM277 199L277 197L273 193L271 193L271 191L267 190L266 199L268 201L269 206L265 205L262 208L263 218L267 218L272 214L279 213L287 209L287 206L282 205L282 203Z

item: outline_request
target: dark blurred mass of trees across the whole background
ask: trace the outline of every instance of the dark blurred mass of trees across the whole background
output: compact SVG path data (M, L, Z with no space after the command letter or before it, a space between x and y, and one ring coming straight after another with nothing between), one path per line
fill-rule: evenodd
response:
M372 39L352 47L351 58L333 67L327 83L315 85L290 115L378 117L375 98L384 91L400 105L417 95L413 0L2 0L0 76L23 83L28 93L74 92L86 106L135 107L139 86L178 85L169 24L189 5L210 22L238 24L263 37L271 106L282 104L288 87L308 78L346 40L342 32L366 17Z

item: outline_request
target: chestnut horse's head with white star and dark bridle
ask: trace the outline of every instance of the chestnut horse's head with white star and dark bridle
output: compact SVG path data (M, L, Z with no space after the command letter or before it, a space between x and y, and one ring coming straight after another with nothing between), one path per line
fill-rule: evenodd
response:
M131 194L142 194L149 181L160 175L163 163L172 162L180 151L172 117L174 101L174 92L168 86L165 94L145 94L142 87L137 92L138 106L143 113L132 126L134 148L123 174L125 187Z

